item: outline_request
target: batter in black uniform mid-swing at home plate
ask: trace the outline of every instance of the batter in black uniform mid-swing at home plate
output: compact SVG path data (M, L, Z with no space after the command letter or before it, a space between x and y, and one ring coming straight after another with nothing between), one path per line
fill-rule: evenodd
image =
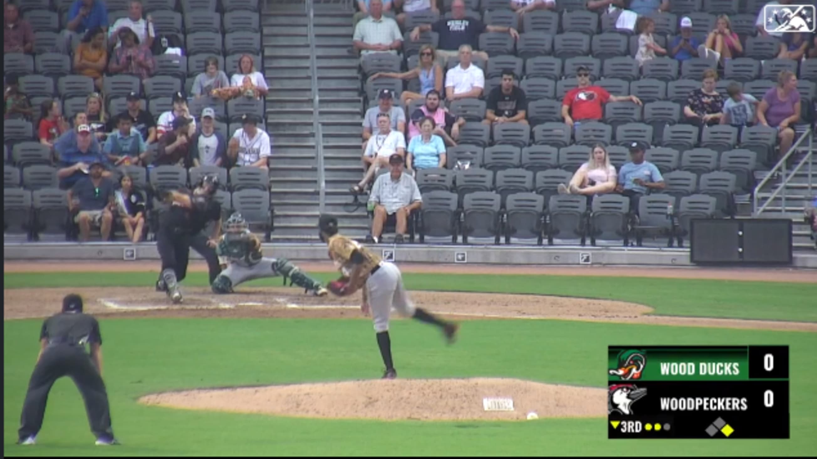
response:
M174 303L181 303L179 283L187 275L190 249L199 252L207 261L210 283L221 272L216 245L221 231L221 205L212 198L218 189L217 176L203 176L193 191L165 191L163 200L170 208L159 216L156 248L162 258L162 273L156 281L156 290L167 292ZM203 234L210 221L217 221L212 238Z

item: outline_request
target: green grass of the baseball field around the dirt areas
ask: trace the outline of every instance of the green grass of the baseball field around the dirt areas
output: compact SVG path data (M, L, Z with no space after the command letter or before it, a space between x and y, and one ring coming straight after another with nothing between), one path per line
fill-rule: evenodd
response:
M332 274L324 274L328 279ZM321 277L321 276L319 276ZM5 274L5 287L145 286L155 274ZM690 279L405 274L409 289L525 292L634 301L655 314L817 322L817 285ZM191 274L188 285L206 283ZM275 281L256 285L279 285ZM59 305L54 305L55 310ZM413 321L392 323L403 378L516 377L606 385L609 344L790 346L791 439L608 440L605 418L525 422L331 421L145 407L143 394L226 385L380 376L367 319L104 319L105 382L124 444L97 448L69 380L51 390L38 444L16 446L40 320L3 323L4 454L19 455L694 455L817 451L817 334L561 320L476 320L457 345Z

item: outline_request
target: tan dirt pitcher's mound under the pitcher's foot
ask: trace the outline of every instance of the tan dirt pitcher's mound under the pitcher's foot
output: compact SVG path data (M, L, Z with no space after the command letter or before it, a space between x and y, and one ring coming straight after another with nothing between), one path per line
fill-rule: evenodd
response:
M514 411L484 411L484 398L513 399ZM148 405L252 412L294 417L414 419L422 421L522 420L604 417L604 389L500 378L396 379L321 384L185 390L145 395Z

